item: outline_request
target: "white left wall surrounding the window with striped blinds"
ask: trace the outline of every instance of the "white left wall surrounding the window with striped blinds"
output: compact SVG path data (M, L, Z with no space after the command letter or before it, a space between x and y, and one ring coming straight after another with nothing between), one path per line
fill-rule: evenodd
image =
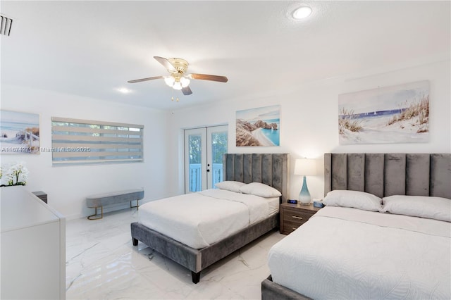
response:
M1 154L2 165L25 161L30 171L25 189L46 192L49 205L66 218L94 213L94 209L86 207L85 198L90 194L140 187L144 188L144 201L170 194L170 185L164 180L166 161L170 159L166 152L166 113L8 85L1 87L1 109L39 113L40 146L49 149L52 116L144 125L144 163L52 167L50 152Z

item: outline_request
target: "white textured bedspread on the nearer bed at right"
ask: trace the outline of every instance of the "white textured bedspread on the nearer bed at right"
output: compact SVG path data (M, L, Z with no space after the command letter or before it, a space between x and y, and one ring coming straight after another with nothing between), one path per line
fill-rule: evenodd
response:
M268 265L273 282L313 299L451 299L451 223L326 207Z

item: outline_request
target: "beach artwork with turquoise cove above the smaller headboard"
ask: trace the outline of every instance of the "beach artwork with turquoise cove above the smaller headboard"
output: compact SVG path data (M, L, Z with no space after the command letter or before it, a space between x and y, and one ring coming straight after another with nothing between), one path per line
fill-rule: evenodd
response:
M237 111L236 146L280 146L280 105Z

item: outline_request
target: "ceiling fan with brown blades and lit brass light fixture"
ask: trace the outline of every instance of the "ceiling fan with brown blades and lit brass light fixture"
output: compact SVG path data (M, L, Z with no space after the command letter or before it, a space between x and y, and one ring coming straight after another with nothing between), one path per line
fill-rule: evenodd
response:
M192 79L228 82L228 78L226 76L194 74L194 73L187 74L186 71L189 63L182 58L164 58L160 56L154 56L154 58L156 59L156 61L161 63L161 65L163 65L163 67L165 67L171 74L168 76L156 76L128 80L128 83L142 82L162 78L164 79L164 82L166 82L166 85L172 87L173 89L181 89L184 95L190 95L192 94L192 91L188 85L190 85L190 80Z

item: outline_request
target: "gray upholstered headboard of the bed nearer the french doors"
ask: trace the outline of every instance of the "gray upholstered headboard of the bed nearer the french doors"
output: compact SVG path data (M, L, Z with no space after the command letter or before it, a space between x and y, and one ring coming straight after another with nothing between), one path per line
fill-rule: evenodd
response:
M288 199L288 154L224 154L223 180L261 182Z

